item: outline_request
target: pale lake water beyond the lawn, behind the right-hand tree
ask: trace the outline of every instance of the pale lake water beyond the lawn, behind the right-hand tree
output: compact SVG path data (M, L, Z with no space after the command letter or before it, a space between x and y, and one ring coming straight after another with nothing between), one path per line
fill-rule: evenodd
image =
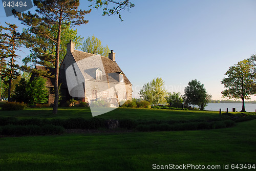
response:
M242 110L242 103L208 103L204 110L207 111L228 111L232 112L232 108L236 108L236 111ZM245 103L246 112L255 112L256 104Z

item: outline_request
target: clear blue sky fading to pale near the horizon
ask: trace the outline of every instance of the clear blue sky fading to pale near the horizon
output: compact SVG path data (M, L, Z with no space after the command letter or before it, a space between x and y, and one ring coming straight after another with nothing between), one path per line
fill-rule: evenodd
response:
M162 77L169 92L184 94L188 81L197 79L212 99L221 99L225 72L256 52L255 0L132 2L135 7L121 13L123 22L117 15L101 16L102 9L93 9L86 15L89 23L75 28L78 35L94 35L114 50L118 65L133 83L133 97L144 83ZM88 1L80 1L81 9L88 6ZM0 22L22 26L13 16L5 16L3 6ZM28 54L24 50L20 56Z

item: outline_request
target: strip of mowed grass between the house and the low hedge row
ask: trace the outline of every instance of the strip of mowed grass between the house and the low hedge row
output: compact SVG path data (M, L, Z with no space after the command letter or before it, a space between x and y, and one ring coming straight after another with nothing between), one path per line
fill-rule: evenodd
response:
M180 110L164 110L164 109L129 109L118 108L111 112L96 116L105 119L207 119L218 116L219 112L210 111L180 111ZM0 117L17 117L19 119L24 118L92 118L90 108L58 108L56 115L52 114L52 108L36 109L27 108L23 111L1 111Z

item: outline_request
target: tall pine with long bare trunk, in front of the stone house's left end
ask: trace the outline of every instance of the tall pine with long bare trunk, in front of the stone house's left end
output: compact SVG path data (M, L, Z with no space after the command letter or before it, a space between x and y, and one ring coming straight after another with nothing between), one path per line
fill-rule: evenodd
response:
M79 0L33 0L33 3L37 8L35 14L30 11L28 13L19 13L15 10L13 10L13 13L22 24L29 27L30 34L23 34L23 38L30 43L32 50L38 54L38 57L44 59L41 60L42 64L46 65L45 61L54 62L55 99L53 113L57 114L61 32L67 28L63 28L62 24L68 26L86 24L88 20L84 20L84 15L90 13L91 10L78 10ZM51 31L56 34L51 34ZM44 50L54 51L54 55L45 53Z

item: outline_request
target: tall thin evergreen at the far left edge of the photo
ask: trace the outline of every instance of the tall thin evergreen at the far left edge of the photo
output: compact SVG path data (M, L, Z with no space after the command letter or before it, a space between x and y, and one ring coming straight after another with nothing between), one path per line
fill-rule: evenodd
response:
M1 33L1 78L8 78L8 101L11 101L11 87L12 80L17 79L19 75L18 69L19 66L15 64L18 55L16 55L16 51L20 48L20 34L17 32L18 26L14 24L8 24L8 27L0 26L2 30L5 30L5 33ZM8 59L6 68L3 68L4 60Z

